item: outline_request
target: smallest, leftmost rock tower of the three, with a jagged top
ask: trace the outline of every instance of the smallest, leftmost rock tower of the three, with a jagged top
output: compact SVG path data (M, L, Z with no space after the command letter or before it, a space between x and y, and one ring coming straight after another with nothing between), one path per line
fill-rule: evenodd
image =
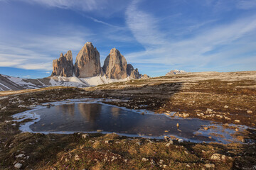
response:
M73 77L73 57L69 50L65 55L60 54L60 58L53 60L52 76Z

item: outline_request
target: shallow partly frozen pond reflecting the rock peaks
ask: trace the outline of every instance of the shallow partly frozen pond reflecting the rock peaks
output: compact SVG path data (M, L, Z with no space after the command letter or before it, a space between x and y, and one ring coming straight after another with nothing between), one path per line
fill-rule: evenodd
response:
M42 107L19 114L14 118L22 118L21 116L29 114L31 115L28 118L35 118L34 122L25 123L27 128L23 127L23 131L31 130L31 132L116 132L120 135L152 138L163 138L168 135L191 142L227 143L227 139L233 142L236 140L230 135L234 130L223 132L222 128L215 132L220 135L209 138L208 133L203 130L204 126L213 125L208 120L170 118L164 114L142 114L142 111L119 108L101 102L64 102L50 108ZM177 123L179 128L176 126Z

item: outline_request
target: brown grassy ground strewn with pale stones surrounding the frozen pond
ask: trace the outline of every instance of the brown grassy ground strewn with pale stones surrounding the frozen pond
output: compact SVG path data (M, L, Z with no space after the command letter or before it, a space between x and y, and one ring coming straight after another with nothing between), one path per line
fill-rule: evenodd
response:
M69 98L117 98L111 104L155 113L247 125L243 143L196 144L115 134L21 133L11 115ZM78 89L0 93L0 169L256 169L256 72L204 72ZM24 120L29 121L29 120Z

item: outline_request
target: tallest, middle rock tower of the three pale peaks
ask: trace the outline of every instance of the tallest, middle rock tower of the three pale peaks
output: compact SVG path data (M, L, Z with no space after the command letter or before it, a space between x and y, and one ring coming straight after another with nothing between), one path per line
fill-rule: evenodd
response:
M92 42L86 42L75 60L75 76L95 77L100 74L100 53Z

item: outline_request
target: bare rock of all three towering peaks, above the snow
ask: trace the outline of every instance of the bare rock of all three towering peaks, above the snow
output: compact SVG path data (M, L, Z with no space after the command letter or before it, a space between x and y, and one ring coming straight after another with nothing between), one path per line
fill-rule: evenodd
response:
M100 52L92 45L92 42L86 42L82 47L73 65L72 52L67 54L60 54L60 58L53 60L52 76L60 77L75 77L87 78L106 75L109 79L125 79L130 77L132 79L140 79L138 69L134 69L132 64L127 64L127 60L123 55L113 48L110 54L106 57L103 67L100 67Z

